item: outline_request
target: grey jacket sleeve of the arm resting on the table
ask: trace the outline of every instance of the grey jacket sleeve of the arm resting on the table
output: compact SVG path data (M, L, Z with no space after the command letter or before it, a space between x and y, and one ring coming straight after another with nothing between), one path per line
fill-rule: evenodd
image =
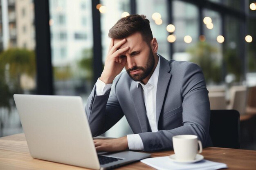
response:
M184 69L181 94L183 126L171 130L140 133L144 151L172 149L175 135L197 135L203 146L209 136L210 104L200 67L190 63Z

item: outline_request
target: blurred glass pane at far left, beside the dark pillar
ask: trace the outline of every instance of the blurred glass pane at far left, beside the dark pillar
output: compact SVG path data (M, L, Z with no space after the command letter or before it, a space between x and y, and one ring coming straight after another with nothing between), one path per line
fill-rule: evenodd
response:
M13 94L36 90L34 3L0 1L0 137L21 132Z

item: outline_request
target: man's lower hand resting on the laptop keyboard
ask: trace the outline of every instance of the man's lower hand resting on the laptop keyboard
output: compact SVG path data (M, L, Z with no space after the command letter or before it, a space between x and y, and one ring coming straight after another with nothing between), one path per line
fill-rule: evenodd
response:
M115 152L128 149L126 136L117 139L94 139L93 141L97 152Z

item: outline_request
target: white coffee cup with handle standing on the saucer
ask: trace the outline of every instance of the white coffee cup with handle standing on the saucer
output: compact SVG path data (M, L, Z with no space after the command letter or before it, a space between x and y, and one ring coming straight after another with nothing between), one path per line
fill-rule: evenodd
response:
M173 136L173 150L175 159L191 161L195 159L196 154L202 152L202 143L196 135L177 135Z

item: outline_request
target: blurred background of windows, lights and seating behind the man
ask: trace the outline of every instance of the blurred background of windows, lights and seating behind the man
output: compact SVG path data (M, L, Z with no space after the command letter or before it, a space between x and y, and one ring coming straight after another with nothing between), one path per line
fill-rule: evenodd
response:
M0 0L0 137L22 132L14 93L86 104L108 30L130 14L147 16L163 57L202 68L211 109L238 110L241 148L256 150L256 0ZM131 133L124 117L104 135Z

